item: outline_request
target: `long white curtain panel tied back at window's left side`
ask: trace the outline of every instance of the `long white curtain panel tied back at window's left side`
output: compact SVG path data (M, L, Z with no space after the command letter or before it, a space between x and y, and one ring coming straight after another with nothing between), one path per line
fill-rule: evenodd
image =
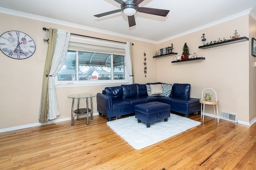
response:
M54 54L52 57L52 65L49 73L49 115L48 119L56 119L57 115L60 114L58 110L56 92L55 92L55 82L54 77L58 74L59 70L62 68L66 61L66 55L68 52L68 42L70 38L70 31L57 29L56 35L56 45L54 49Z

